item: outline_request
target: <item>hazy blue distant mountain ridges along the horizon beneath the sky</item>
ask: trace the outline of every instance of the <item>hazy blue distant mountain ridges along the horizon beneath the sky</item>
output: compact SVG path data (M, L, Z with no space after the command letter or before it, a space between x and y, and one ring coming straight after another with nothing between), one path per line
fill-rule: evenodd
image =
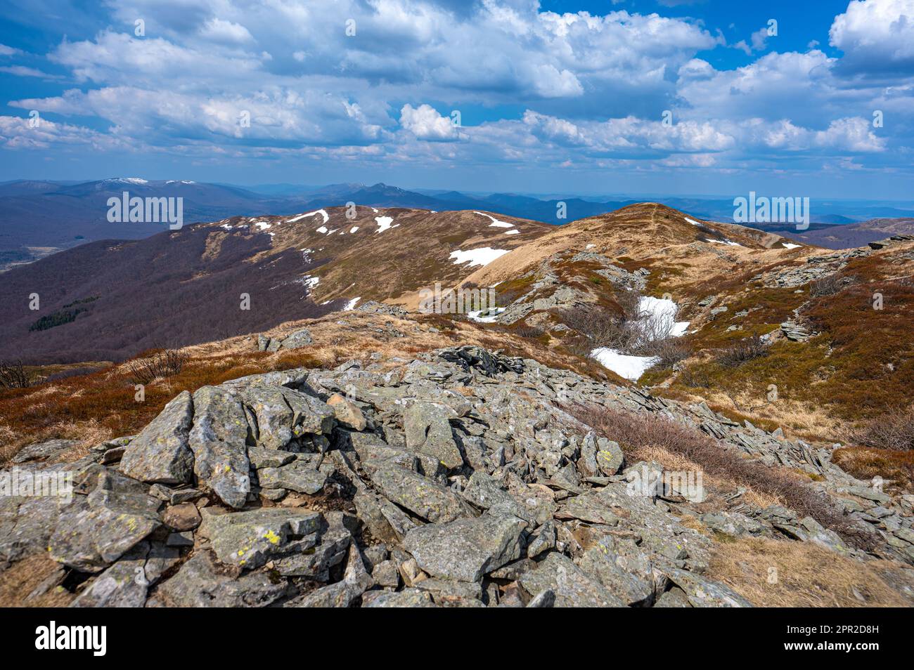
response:
M107 201L127 191L139 197L184 198L184 221L217 221L230 216L290 215L323 207L360 206L402 207L436 212L488 210L518 218L564 225L571 221L615 211L636 199L600 200L568 197L540 199L525 194L463 194L459 191L410 191L386 183L337 183L307 186L290 183L241 187L227 183L197 183L188 180L145 180L116 177L91 182L53 182L20 180L0 183L0 270L31 262L60 249L102 239L142 239L163 230L160 224L112 224L106 219ZM694 197L658 199L689 215L709 221L730 221L732 201ZM910 217L912 209L897 204L813 204L810 232L818 225L853 225L866 219ZM842 209L844 208L844 209ZM559 216L564 215L563 218ZM784 225L757 225L760 229L794 236L806 244L817 244L816 237ZM856 232L852 243L859 246L877 239L867 229ZM844 236L830 231L822 236L823 246L843 244Z

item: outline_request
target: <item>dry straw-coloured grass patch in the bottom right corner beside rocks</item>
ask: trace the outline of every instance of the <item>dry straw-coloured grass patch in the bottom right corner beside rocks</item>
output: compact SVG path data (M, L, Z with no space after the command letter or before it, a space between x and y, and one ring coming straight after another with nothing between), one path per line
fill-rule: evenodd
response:
M777 571L775 583L769 583L771 569ZM715 544L707 577L759 607L906 607L912 603L883 578L885 571L900 569L886 560L840 556L811 542L747 538Z

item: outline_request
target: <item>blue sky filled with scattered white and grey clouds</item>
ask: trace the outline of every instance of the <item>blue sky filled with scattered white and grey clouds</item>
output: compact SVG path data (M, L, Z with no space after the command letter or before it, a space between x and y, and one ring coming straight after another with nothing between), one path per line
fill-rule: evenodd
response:
M914 0L5 0L0 180L914 200Z

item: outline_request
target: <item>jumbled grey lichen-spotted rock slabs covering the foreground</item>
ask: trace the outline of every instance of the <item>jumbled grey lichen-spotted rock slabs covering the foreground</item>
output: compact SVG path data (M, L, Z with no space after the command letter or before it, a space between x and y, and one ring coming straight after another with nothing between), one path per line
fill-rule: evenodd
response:
M16 467L70 472L74 495L0 498L0 571L47 552L60 568L26 600L67 580L82 607L741 607L703 576L713 533L914 563L914 497L780 431L478 347L372 358L180 393L76 462L55 462L66 441L27 447ZM663 415L808 473L876 549L741 490L709 509L632 486L662 466L627 463L574 405Z

